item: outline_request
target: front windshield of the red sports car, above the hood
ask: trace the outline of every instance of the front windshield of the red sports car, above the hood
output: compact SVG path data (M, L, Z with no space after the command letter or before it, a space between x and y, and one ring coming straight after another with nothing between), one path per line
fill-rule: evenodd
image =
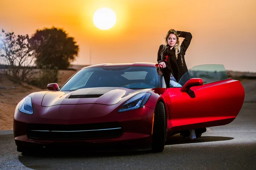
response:
M81 69L67 81L60 91L92 87L125 87L146 89L161 87L156 67L110 66Z

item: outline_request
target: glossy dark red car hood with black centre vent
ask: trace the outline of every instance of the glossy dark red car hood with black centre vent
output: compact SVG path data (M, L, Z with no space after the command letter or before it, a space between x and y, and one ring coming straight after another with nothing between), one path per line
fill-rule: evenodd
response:
M73 92L52 91L47 92L41 106L50 107L60 104L117 104L121 100L127 100L133 95L143 91L122 87L96 87L78 89Z

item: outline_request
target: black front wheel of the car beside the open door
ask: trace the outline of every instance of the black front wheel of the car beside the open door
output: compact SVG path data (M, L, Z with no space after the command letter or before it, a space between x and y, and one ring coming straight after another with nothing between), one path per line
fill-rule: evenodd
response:
M157 103L155 114L154 114L154 124L153 124L153 134L152 134L152 151L162 152L164 149L166 141L166 114L163 102L159 101Z

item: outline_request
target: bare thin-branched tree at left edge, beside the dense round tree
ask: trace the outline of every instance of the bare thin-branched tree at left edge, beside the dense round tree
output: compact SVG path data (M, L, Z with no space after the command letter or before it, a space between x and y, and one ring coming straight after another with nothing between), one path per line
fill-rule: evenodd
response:
M15 35L14 32L0 33L0 64L3 72L20 81L28 81L35 69L35 54L42 50L47 40L32 40L29 35Z

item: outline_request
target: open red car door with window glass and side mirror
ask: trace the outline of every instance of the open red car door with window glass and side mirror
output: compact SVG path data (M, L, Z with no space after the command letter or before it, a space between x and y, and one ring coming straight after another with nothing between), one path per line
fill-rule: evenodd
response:
M172 132L229 124L244 102L244 88L227 78L223 65L199 65L180 79L182 87L167 88L168 129ZM165 94L167 95L167 94Z

